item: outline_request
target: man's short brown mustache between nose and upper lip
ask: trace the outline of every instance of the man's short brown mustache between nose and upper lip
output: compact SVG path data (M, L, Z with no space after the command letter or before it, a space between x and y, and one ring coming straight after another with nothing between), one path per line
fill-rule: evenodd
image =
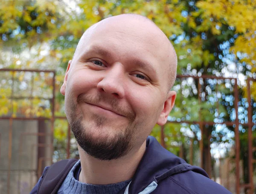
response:
M123 107L120 105L119 100L116 98L106 98L102 95L83 95L80 94L77 98L77 104L80 103L88 103L88 104L99 104L100 102L105 102L107 104L110 104L115 112L118 112L118 114L123 115L127 117L130 121L135 120L135 112L133 110L129 110L126 107Z

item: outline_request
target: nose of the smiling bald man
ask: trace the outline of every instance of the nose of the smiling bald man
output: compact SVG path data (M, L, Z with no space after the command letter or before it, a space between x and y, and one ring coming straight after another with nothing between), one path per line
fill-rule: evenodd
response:
M115 98L123 98L125 94L123 87L124 76L121 65L113 65L104 72L104 76L98 83L97 88L102 93L114 96Z

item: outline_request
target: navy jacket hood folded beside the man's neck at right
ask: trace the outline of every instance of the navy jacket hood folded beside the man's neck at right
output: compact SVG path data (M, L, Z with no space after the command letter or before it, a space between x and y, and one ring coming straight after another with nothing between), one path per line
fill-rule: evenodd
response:
M187 171L208 177L203 169L189 165L185 160L164 149L154 137L148 136L145 153L125 194L150 193L149 191L154 190L166 177Z

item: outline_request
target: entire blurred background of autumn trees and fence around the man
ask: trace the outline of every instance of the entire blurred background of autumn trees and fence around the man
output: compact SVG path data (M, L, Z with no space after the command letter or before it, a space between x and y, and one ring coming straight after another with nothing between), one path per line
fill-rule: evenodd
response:
M28 194L45 166L79 157L60 94L90 25L118 14L153 20L175 47L177 91L152 134L236 194L256 193L254 0L2 0L0 193Z

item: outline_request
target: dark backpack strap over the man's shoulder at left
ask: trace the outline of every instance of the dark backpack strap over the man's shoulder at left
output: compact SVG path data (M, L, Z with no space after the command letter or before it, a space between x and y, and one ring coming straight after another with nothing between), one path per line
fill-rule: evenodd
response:
M42 177L38 194L56 194L76 162L77 159L67 159L52 164Z

